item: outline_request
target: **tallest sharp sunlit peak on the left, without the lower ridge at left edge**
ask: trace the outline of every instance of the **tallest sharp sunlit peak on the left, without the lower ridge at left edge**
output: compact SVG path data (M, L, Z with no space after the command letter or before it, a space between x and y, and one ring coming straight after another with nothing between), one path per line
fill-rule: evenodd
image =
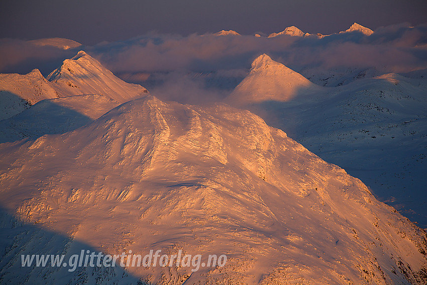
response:
M84 51L79 51L71 59L65 59L47 79L59 89L61 97L101 94L124 103L146 96L147 93L147 89L141 85L130 84L116 77Z

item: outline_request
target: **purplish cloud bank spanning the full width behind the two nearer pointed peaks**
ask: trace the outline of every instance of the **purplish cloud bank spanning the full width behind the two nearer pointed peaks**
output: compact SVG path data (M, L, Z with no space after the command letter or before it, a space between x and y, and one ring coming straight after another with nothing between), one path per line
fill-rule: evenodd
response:
M194 74L212 73L216 77L227 77L224 75L227 70L231 73L238 70L243 74L249 70L252 60L262 53L296 71L375 67L386 73L427 68L426 47L427 25L408 27L408 24L401 24L378 28L369 37L357 32L334 34L322 39L212 34L183 37L150 33L126 41L102 42L83 48L125 80L151 84L152 88L158 87L159 92L173 90L172 83L176 90L186 84L196 93L197 89L208 86L211 78L196 78ZM75 50L64 51L3 39L0 40L0 72L26 73L39 68L47 74L64 58L75 53ZM221 76L220 71L223 72ZM160 80L161 74L164 78ZM229 74L228 77L230 82L238 83L237 78L242 75ZM227 86L232 88L233 84ZM214 95L222 96L217 92Z

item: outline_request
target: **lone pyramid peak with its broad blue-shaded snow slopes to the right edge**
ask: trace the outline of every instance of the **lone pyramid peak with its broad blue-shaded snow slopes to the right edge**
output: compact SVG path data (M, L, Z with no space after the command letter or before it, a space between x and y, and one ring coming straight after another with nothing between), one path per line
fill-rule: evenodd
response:
M253 88L242 88L247 80L256 82ZM288 74L251 71L234 91L241 96L227 102L259 114L326 161L345 168L382 201L427 228L425 203L420 202L427 201L427 80L397 74L349 78L346 85L298 88L302 92L283 97L283 90L291 88L277 82L289 80Z

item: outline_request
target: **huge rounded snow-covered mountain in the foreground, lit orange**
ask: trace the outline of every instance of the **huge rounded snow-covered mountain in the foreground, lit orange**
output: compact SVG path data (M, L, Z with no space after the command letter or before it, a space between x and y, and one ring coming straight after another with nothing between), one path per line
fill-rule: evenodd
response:
M2 219L4 282L426 281L425 232L378 202L359 179L248 111L147 97L63 135L0 144L0 153L2 207L16 215ZM43 232L21 230L35 223ZM195 272L185 266L68 272L21 269L16 257L68 257L85 245L111 254L181 249L228 259L224 267Z

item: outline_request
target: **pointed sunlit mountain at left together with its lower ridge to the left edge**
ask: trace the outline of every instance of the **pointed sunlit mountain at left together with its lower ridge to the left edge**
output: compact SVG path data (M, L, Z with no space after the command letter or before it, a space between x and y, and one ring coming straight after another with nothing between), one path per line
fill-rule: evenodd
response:
M106 97L101 101L124 103L147 95L146 88L116 77L84 51L64 60L47 78L44 78L38 69L23 75L0 73L1 108L4 109L0 120L11 118L45 99L95 94ZM53 102L56 104L59 101Z

